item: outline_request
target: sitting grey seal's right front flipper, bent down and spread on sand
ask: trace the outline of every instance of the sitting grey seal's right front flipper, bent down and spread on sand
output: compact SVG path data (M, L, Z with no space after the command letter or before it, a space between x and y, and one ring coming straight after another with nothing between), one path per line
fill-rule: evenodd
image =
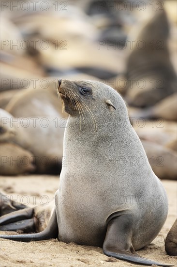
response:
M130 261L137 264L158 266L171 266L161 264L139 256L132 245L132 215L124 214L113 217L108 222L107 232L103 243L103 252L106 256L115 257L120 260Z

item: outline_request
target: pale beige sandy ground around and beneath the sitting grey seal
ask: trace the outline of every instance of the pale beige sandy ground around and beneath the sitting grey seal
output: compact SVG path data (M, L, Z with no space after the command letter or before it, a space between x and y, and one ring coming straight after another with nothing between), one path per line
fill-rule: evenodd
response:
M162 181L162 183L169 198L167 220L155 240L138 253L148 259L177 266L177 257L168 256L164 250L164 238L177 217L177 183L175 181ZM56 176L32 175L0 179L1 191L27 204L30 202L31 206L34 204L33 200L36 200L36 204L52 200L58 185L59 178ZM97 247L66 244L54 239L30 243L0 240L0 267L141 267L107 257L102 249Z

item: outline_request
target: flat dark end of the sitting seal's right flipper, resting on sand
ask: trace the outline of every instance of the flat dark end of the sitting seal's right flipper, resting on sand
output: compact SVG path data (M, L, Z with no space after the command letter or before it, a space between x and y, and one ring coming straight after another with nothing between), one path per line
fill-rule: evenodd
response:
M137 263L137 264L143 264L143 265L157 265L157 266L173 266L173 264L162 264L162 263L158 263L155 262L153 260L148 260L147 258L141 257L138 254L131 254L131 253L114 253L114 252L108 252L108 251L104 251L104 254L106 256L109 257L115 257L119 260L123 260L123 261L129 261L129 262L133 262L133 263Z

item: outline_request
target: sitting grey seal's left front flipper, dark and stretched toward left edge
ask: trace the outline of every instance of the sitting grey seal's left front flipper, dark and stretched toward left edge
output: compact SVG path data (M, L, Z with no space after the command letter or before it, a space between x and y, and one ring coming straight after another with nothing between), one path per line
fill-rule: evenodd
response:
M59 233L59 229L58 229L58 223L57 223L57 215L56 215L56 211L54 210L52 217L49 221L49 224L44 229L44 231L37 233L37 234L14 234L14 235L1 234L0 238L10 239L10 240L20 241L20 242L30 242L30 241L41 241L41 240L47 240L51 238L57 238L58 233Z

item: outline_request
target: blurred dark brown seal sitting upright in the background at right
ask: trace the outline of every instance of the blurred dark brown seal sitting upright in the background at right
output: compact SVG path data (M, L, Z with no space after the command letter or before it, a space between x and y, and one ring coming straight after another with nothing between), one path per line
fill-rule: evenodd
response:
M170 59L169 30L166 12L155 11L135 38L126 71L129 81L126 100L130 105L153 106L176 92L177 75ZM131 39L134 37L129 36Z

